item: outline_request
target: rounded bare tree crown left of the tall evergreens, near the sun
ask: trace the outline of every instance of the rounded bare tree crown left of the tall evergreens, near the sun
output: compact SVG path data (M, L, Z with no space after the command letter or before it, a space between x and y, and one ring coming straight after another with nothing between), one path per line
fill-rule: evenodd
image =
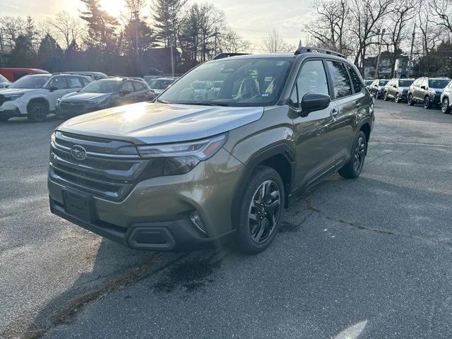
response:
M47 20L50 30L67 49L71 42L81 40L86 33L86 25L79 18L74 18L66 11L57 13L54 20Z

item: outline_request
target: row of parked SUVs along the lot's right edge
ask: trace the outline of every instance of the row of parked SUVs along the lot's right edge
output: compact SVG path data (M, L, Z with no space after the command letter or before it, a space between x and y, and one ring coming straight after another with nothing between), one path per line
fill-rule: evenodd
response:
M376 99L404 101L410 106L422 103L426 109L441 107L443 113L452 111L452 81L449 78L376 79L368 89Z

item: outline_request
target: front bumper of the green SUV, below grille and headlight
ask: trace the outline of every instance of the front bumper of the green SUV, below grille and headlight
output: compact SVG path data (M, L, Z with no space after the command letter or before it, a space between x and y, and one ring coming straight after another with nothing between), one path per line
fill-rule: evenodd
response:
M83 189L48 180L50 210L91 232L132 249L176 251L222 244L234 233L231 208L244 165L221 149L191 172L139 182L123 201L90 196L94 217L83 220L64 208L64 191ZM198 211L203 234L189 215Z

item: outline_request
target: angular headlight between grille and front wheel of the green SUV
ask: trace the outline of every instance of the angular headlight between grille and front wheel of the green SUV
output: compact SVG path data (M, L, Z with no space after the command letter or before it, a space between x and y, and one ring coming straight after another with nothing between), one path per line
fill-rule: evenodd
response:
M165 158L162 175L185 174L199 162L213 157L227 141L227 134L186 143L138 146L141 157Z

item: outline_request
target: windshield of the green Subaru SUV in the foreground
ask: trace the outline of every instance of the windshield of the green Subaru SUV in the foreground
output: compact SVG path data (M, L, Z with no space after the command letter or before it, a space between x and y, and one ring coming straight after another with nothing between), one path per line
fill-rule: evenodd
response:
M159 100L197 105L274 105L292 64L292 58L208 62L180 78Z

